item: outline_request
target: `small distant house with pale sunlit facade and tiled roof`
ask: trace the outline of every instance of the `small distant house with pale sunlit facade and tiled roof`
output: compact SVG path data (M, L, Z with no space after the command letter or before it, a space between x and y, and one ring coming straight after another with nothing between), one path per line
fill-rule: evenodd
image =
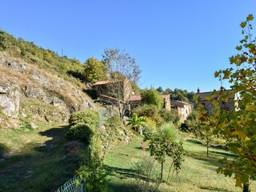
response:
M182 101L171 101L171 108L177 110L180 122L184 122L189 114L192 112L190 103Z

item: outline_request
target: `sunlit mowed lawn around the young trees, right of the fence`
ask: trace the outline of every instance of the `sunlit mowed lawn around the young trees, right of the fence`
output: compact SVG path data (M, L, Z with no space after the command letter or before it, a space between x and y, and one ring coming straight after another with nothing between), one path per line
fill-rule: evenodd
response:
M108 184L113 191L135 191L134 162L143 160L142 140L137 140L126 146L114 146L105 156L105 168L109 171ZM234 154L226 150L210 148L210 157L206 157L206 146L193 142L183 142L186 150L185 162L178 177L174 174L172 182L166 183L168 166L164 170L164 182L159 191L242 191L234 186L234 176L226 178L217 174L216 169L221 166L218 159L233 158ZM148 145L147 145L148 146ZM146 156L150 156L149 150ZM169 160L170 162L170 160ZM168 160L166 161L168 163ZM158 165L158 169L160 166ZM256 190L255 182L251 183L251 191Z

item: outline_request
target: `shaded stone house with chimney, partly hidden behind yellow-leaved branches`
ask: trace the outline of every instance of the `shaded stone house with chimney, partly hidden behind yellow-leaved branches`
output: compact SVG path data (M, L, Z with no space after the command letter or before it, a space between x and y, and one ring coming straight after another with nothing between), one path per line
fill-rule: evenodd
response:
M215 90L214 90L215 91ZM198 105L202 104L204 106L204 109L208 111L208 114L212 114L212 110L214 109L214 106L212 105L211 101L208 101L207 98L218 98L218 94L214 94L214 91L209 92L200 92L199 88L196 94L196 97L198 98L198 102L194 103L194 109L198 108ZM225 90L226 94L229 95L227 102L219 102L220 106L225 106L227 110L230 112L234 110L235 108L235 101L238 99L238 96L236 94L233 94L231 90Z

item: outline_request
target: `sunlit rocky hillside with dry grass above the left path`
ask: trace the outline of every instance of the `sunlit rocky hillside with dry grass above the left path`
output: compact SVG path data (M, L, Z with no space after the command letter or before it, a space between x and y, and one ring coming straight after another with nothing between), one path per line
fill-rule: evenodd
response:
M0 118L2 111L10 118L64 122L70 113L89 108L94 103L81 87L0 52Z

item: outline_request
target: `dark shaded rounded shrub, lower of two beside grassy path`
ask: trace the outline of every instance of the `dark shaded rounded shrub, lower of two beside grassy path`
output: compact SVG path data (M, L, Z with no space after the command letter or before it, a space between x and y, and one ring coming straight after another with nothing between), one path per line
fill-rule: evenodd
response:
M90 138L93 136L95 129L86 124L77 124L70 127L66 132L67 140L81 140L86 145L90 144Z

